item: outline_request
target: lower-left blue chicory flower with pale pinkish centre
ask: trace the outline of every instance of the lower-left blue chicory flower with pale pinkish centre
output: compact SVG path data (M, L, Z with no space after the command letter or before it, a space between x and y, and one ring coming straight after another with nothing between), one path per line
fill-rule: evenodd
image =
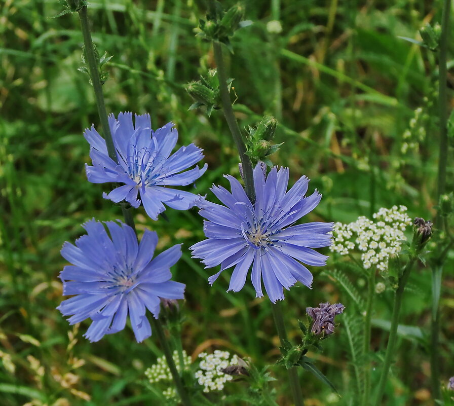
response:
M152 335L145 308L158 318L160 298L183 299L183 283L171 281L170 267L181 256L180 244L153 258L158 243L155 232L145 230L140 244L126 224L106 222L111 238L100 222L84 224L87 235L63 244L61 255L73 265L60 273L63 295L75 295L57 308L70 316L69 324L91 318L85 333L91 342L117 333L129 313L137 342Z

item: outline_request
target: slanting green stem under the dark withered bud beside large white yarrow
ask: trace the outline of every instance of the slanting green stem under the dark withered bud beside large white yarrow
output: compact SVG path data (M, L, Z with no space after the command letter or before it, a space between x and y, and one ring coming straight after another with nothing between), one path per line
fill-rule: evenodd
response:
M389 332L388 347L386 349L385 361L383 362L382 374L380 376L379 386L377 389L377 395L375 398L375 406L380 406L383 398L383 392L385 391L385 386L388 380L389 368L391 366L391 361L394 357L394 348L396 346L397 340L397 326L399 325L400 317L400 308L402 306L402 297L405 290L405 285L410 276L411 268L413 267L416 257L412 256L407 262L402 275L399 278L399 283L396 290L396 296L394 297L394 306L393 306L393 316L391 319L391 328Z

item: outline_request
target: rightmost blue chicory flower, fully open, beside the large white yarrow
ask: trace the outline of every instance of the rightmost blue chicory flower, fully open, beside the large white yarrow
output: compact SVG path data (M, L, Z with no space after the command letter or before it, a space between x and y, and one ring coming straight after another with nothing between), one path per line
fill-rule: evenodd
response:
M211 276L210 284L225 269L235 266L229 290L243 288L252 265L251 281L257 297L262 297L263 284L270 300L284 299L287 290L296 281L311 287L312 274L300 262L323 266L327 256L312 248L331 244L333 223L306 223L293 225L296 220L313 210L321 195L315 191L305 197L309 179L299 178L286 193L288 168L273 167L268 177L259 164L254 169L256 200L247 197L240 182L230 175L232 193L213 186L211 191L226 207L207 200L199 202L207 240L191 247L193 257L203 259L205 268L221 264L220 271ZM299 262L300 261L300 262Z

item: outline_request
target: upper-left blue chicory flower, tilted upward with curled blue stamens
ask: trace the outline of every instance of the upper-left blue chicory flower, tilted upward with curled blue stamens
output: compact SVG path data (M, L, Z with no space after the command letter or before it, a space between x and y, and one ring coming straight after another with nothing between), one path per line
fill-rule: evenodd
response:
M172 152L178 139L173 123L153 131L148 114L120 113L118 119L109 115L109 127L117 153L118 164L107 153L104 138L92 126L84 136L90 143L93 166L86 165L87 178L92 183L125 183L113 189L105 199L114 202L126 200L134 207L143 203L146 213L156 220L165 210L163 203L177 210L187 210L196 205L199 196L167 186L185 186L193 183L207 169L195 165L203 158L202 150L194 144L182 146ZM140 193L140 200L137 194Z

